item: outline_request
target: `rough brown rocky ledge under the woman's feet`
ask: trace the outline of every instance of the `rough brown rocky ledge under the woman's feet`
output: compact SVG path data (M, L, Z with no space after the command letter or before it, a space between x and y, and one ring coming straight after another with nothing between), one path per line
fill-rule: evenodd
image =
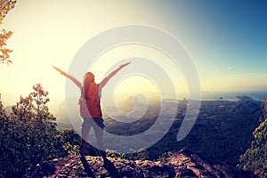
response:
M236 167L209 164L189 150L181 150L166 161L127 160L79 156L53 159L28 170L23 177L251 177Z

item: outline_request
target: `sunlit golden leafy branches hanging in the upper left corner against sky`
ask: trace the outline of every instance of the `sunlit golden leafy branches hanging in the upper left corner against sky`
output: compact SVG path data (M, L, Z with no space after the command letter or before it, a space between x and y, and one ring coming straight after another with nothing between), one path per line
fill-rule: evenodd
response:
M15 7L17 1L15 0L0 0L0 24L5 17L5 15ZM7 40L12 36L12 31L6 31L2 29L0 33L0 63L12 63L10 60L11 49L5 48Z

